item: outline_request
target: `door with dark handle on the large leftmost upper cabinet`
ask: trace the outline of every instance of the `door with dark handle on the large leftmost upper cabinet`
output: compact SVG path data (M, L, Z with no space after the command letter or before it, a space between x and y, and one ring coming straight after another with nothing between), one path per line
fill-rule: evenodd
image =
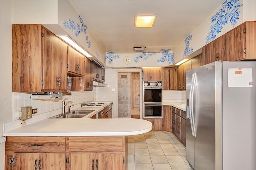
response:
M42 90L67 90L67 45L42 29Z

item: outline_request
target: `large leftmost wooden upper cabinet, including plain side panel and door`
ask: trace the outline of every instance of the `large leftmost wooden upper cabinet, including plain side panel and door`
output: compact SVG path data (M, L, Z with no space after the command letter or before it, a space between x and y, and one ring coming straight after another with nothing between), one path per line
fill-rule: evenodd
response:
M12 25L12 51L13 92L67 90L67 45L42 25Z

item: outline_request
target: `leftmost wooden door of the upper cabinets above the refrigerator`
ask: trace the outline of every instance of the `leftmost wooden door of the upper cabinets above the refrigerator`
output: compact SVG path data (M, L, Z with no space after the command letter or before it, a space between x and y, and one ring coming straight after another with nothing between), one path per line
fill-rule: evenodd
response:
M215 61L215 54L218 52L218 39L208 43L203 47L201 65Z

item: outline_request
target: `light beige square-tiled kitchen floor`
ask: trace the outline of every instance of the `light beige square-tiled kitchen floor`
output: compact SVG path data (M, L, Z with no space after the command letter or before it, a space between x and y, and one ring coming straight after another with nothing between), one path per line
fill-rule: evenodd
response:
M171 133L128 136L128 170L192 170L186 150Z

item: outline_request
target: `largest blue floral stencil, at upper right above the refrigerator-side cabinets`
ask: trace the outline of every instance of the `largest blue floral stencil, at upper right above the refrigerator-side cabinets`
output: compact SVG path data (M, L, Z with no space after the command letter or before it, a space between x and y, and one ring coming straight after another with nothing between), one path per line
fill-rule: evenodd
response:
M239 0L226 0L222 4L222 8L216 12L211 18L212 25L210 32L206 37L206 43L210 43L216 38L216 34L221 32L223 26L230 22L235 27L237 20L239 19L240 11L239 8L243 4L238 3Z

